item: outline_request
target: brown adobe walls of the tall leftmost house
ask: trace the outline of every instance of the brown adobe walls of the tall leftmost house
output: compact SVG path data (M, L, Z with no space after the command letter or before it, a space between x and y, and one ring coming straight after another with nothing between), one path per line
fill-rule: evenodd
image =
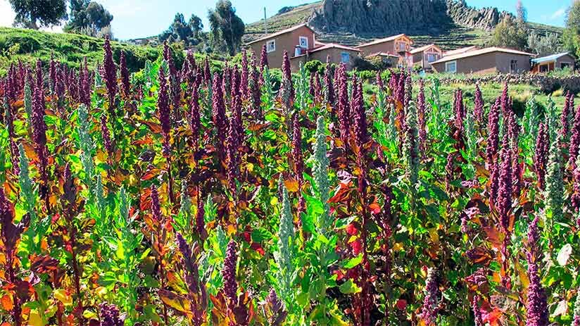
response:
M272 51L267 54L268 65L270 65L271 68L281 68L282 58L284 58L284 50L288 51L288 56L290 58L294 57L294 48L296 48L296 45L300 44L301 36L308 37L308 49L313 49L315 35L314 32L306 26L297 28L296 30L278 35L276 37L263 39L260 42L250 44L250 46L254 54L256 54L256 56L259 58L260 54L262 53L262 46L266 44L266 42L275 39L276 51Z

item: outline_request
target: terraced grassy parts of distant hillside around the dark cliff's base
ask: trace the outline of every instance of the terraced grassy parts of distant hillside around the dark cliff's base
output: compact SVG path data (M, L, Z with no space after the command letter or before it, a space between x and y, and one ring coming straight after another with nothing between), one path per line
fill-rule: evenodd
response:
M298 23L305 23L312 15L315 8L319 8L321 1L313 4L303 4L296 6L289 12L273 15L267 19L268 32L277 32L284 30ZM549 25L542 25L537 23L530 23L532 30L537 30L541 34L546 32L561 33L562 28ZM262 37L264 34L264 22L258 21L246 25L246 35L244 35L244 42L251 42L253 39ZM448 32L441 35L412 35L416 46L435 43L443 49L457 49L462 46L469 45L483 45L489 37L489 33L484 30L474 28L461 27L459 25L451 25ZM338 42L345 45L355 45L367 42L370 39L377 39L385 37L385 35L353 35L351 33L329 33L317 35L317 39L321 42Z

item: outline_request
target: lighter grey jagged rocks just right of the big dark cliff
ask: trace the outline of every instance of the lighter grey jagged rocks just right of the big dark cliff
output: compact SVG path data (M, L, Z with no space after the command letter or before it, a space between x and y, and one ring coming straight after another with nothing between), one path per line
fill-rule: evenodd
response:
M447 1L447 14L456 24L463 27L479 28L481 30L493 30L498 23L507 15L506 11L499 12L498 8L476 9L467 6L465 1Z

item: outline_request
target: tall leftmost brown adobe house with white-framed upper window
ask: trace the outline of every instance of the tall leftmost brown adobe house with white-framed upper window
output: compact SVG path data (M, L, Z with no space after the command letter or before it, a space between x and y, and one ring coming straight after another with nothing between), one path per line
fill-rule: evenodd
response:
M266 35L256 41L249 42L254 54L260 56L262 46L266 44L268 64L272 68L282 67L284 51L288 51L290 58L306 54L308 50L314 49L316 44L314 30L306 24L296 25L286 30Z

